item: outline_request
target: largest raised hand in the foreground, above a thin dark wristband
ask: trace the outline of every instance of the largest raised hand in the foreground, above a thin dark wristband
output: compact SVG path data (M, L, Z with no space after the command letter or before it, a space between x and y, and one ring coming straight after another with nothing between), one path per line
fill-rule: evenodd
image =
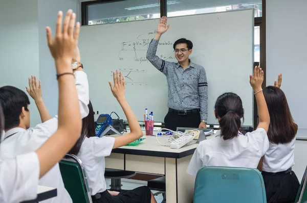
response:
M47 31L47 40L48 46L51 52L52 57L55 60L55 63L67 63L71 64L73 54L76 50L78 44L78 36L80 32L80 23L76 23L76 14L70 9L68 10L62 28L62 16L63 13L61 11L58 12L57 22L56 22L56 34L55 38L52 38L52 31L50 27L46 27ZM72 70L71 66L56 66L57 72L63 72L63 68L65 70Z

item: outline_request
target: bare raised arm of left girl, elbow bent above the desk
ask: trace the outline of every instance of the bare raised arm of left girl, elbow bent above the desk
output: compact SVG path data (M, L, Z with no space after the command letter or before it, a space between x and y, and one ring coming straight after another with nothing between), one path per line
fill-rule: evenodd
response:
M113 72L113 81L114 85L109 82L111 91L115 98L118 100L118 103L120 104L121 108L123 109L130 128L130 133L115 138L113 148L118 148L141 138L143 136L143 132L141 130L138 119L136 118L135 114L133 113L126 101L125 78L122 76L121 73L118 72L118 70L116 72Z

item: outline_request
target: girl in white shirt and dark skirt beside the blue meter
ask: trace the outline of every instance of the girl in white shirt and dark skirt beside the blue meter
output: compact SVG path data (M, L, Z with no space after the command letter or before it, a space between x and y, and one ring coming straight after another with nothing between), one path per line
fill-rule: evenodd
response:
M104 157L111 154L112 149L124 146L143 136L139 122L130 109L124 93L124 77L119 76L118 70L113 73L114 86L111 82L113 95L122 107L130 128L130 133L119 137L97 137L95 134L94 114L92 104L89 104L90 114L82 120L82 133L80 139L70 151L77 155L85 168L87 181L94 203L98 202L156 202L149 188L146 186L122 192L106 190L104 179Z

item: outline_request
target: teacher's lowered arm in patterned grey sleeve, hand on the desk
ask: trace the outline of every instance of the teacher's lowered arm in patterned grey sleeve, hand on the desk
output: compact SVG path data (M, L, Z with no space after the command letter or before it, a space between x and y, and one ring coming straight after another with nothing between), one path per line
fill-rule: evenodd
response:
M207 123L204 122L204 120L207 120L208 117L208 84L205 68L202 68L200 73L198 90L200 97L201 120L203 120L201 121L199 128L206 129Z

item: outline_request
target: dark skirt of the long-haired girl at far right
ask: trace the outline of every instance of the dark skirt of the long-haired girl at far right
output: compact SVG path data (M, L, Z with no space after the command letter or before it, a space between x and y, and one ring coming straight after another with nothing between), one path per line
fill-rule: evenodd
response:
M268 203L295 201L299 181L292 170L283 174L270 174L262 171L262 177L264 177Z

